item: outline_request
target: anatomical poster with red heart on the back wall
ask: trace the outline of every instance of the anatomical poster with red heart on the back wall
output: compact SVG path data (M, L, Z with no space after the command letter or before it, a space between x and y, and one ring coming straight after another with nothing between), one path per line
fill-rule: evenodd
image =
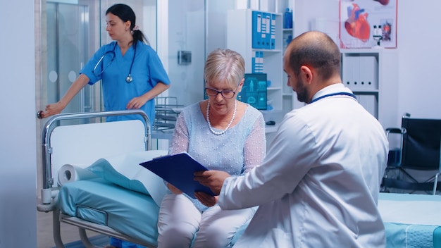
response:
M397 47L397 0L340 0L340 47Z

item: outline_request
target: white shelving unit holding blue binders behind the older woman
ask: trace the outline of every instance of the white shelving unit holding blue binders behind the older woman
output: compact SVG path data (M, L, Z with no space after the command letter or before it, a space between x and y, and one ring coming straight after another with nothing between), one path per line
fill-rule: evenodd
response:
M240 53L245 60L245 73L252 73L252 59L256 51L263 53L263 73L271 85L267 89L267 99L271 101L271 110L262 111L266 120L279 123L283 117L284 73L282 69L283 43L282 13L270 13L275 18L274 49L253 48L253 11L251 9L230 10L227 12L227 47ZM260 11L265 12L265 11ZM268 12L266 12L268 13ZM291 30L292 32L292 30ZM287 92L285 92L287 93ZM271 128L268 130L272 130ZM269 132L269 131L267 131Z

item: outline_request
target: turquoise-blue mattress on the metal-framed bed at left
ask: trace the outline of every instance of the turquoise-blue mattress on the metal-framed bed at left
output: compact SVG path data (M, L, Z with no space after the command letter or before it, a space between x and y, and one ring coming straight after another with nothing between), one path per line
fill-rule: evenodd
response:
M159 206L142 194L102 178L69 182L60 188L61 213L106 225L156 246Z

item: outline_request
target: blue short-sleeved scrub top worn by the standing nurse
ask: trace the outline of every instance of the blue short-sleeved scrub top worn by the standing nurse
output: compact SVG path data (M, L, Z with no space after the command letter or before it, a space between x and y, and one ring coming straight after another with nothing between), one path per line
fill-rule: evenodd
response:
M111 57L115 54L113 61ZM96 73L93 73L94 67L97 65L101 56L104 56L102 63L98 66ZM129 75L130 65L132 64L133 56L135 60L132 66L132 82L125 81L125 77ZM110 63L110 64L109 64ZM101 75L104 66L105 70ZM106 67L107 66L107 67ZM156 51L151 46L143 42L137 42L136 54L135 46L130 46L128 51L123 56L120 47L116 42L111 42L101 48L90 58L84 68L80 70L80 74L84 73L89 77L89 85L102 80L104 109L106 111L120 111L125 110L128 102L133 97L139 97L152 89L158 82L163 82L166 85L170 84L170 79L163 68L161 60ZM154 99L147 101L141 107L142 111L149 116L151 127L154 124ZM132 120L140 119L140 116L109 116L107 121L116 120Z

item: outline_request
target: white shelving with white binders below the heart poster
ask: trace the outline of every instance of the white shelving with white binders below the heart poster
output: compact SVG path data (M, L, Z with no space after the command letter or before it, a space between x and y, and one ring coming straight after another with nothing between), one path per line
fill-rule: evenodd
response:
M342 82L384 128L396 125L398 66L395 49L341 49Z

